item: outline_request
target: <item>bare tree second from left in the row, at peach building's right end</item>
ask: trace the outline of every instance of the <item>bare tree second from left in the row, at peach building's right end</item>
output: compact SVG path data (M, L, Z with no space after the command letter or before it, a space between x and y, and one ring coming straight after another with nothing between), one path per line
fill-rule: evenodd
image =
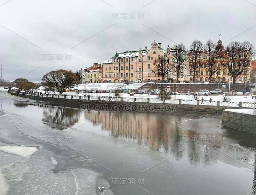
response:
M172 52L173 71L176 72L176 83L179 83L180 72L185 68L186 46L179 43Z

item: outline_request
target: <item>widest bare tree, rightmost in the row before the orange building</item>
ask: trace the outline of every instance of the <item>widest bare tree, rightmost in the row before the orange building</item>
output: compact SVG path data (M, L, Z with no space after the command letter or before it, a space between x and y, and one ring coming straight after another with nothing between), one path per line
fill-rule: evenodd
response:
M228 75L232 76L233 83L236 83L236 77L242 75L242 72L247 70L248 63L250 63L255 54L255 49L252 43L245 40L243 43L232 41L225 50L227 58L230 61L230 63L227 64L228 69L230 69L230 75L229 71Z

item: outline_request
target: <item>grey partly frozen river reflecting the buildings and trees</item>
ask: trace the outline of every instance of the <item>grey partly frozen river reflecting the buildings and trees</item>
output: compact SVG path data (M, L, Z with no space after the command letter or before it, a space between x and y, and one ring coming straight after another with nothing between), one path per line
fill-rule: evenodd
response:
M39 146L22 161L0 149L0 194L256 194L255 136L221 116L0 96L0 145Z

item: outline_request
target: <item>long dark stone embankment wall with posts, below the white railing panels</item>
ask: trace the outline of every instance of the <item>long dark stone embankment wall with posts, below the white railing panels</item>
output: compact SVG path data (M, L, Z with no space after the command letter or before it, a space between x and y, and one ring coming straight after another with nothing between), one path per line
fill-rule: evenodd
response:
M29 98L33 100L38 100L42 102L47 102L50 105L62 105L62 106L75 106L83 108L93 108L93 109L105 109L113 111L139 111L139 112L190 112L190 113L203 113L203 114L218 114L221 115L222 111L225 109L232 109L238 107L230 106L220 106L220 101L217 101L217 105L201 105L199 100L197 100L197 105L192 104L181 104L181 99L179 104L170 104L170 103L152 103L149 102L126 102L126 101L110 101L110 100L85 100L85 99L73 99L71 98L56 98L52 95L49 96L38 96L36 95L27 95L24 93L11 92L11 95ZM122 99L122 98L121 98ZM241 107L241 103L239 103Z

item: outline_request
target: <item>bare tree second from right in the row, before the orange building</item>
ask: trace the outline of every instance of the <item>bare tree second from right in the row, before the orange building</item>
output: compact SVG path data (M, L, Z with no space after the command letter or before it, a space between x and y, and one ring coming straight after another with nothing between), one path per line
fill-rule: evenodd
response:
M204 51L206 52L207 63L209 64L209 66L204 64L204 68L209 72L209 83L212 83L212 76L221 69L221 66L216 67L215 63L217 61L220 62L220 64L223 63L224 51L222 51L220 47L217 47L217 44L213 43L213 41L210 39L204 45Z

